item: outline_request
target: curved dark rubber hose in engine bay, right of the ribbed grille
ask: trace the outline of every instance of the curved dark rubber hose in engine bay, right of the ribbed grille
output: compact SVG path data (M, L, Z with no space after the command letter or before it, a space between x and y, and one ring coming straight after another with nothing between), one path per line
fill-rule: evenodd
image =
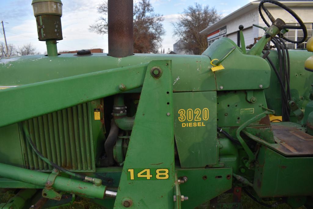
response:
M109 167L115 164L113 147L118 137L119 127L116 125L114 119L111 121L111 129L109 135L104 143L104 149L107 156L107 160L104 162L105 167Z

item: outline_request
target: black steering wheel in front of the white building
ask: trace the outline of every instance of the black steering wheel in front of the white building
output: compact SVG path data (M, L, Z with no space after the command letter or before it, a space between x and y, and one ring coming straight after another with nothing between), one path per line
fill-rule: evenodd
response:
M295 40L290 40L290 39L287 39L285 38L283 35L281 35L281 38L283 38L284 40L290 42L290 43L294 43L294 44L300 44L302 42L305 41L305 39L307 38L308 36L308 33L306 31L306 27L305 27L305 24L302 22L302 20L299 18L299 16L294 12L292 11L289 7L286 7L284 4L280 3L280 2L277 2L275 0L263 0L260 2L259 4L259 13L260 13L260 16L262 18L262 20L264 21L264 23L269 27L269 23L265 20L262 12L261 12L261 8L263 9L263 11L265 12L265 14L269 17L270 21L273 23L275 21L275 18L273 17L273 15L269 12L269 10L267 8L264 7L264 3L272 3L272 4L275 4L277 6L279 6L280 8L283 8L285 9L288 13L290 13L299 23L300 26L293 26L293 25L282 25L282 27L280 28L281 29L302 29L303 31L303 39L300 40L300 41L295 41Z

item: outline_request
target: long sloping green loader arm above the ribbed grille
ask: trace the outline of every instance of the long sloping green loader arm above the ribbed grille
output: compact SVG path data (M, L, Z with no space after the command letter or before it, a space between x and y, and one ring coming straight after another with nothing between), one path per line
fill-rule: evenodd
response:
M22 85L0 91L0 127L139 88L148 63ZM120 90L123 83L125 89ZM36 95L34 97L34 95Z

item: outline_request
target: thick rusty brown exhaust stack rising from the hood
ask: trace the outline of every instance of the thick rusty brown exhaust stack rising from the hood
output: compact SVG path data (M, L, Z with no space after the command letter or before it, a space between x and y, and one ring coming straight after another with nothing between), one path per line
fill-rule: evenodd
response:
M108 0L109 56L133 55L133 1Z

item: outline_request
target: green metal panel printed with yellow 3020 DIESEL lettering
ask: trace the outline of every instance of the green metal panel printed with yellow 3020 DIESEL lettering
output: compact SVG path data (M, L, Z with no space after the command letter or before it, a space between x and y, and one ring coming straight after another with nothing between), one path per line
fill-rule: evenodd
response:
M217 163L216 92L173 94L174 133L182 168Z

